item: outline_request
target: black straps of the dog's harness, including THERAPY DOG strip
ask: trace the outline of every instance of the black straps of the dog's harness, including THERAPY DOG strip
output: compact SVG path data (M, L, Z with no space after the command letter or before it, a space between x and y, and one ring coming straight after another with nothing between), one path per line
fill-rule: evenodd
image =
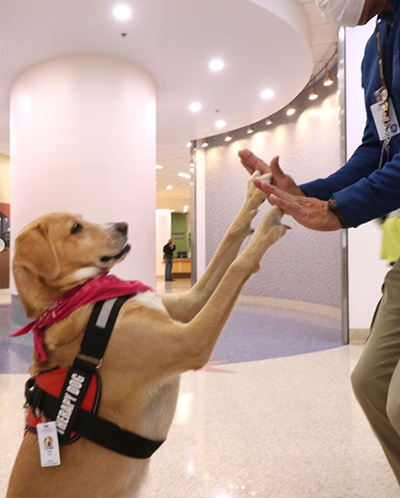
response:
M123 296L98 301L94 305L81 349L68 371L60 398L43 391L34 378L26 383L25 397L34 410L40 410L47 418L56 420L60 443L67 444L82 436L122 455L143 459L149 458L164 441L139 436L80 407L90 380L101 365L118 313L129 298ZM70 409L68 402L71 393L76 401ZM71 432L77 436L71 438Z

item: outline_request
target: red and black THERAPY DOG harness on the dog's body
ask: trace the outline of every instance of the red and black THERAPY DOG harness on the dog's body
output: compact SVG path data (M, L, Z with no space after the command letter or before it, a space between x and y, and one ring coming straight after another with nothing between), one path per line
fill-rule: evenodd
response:
M153 441L122 429L97 415L101 397L99 368L122 305L132 296L97 301L71 368L38 373L25 385L29 407L27 430L43 421L56 422L60 444L84 437L125 456L149 458L164 441Z

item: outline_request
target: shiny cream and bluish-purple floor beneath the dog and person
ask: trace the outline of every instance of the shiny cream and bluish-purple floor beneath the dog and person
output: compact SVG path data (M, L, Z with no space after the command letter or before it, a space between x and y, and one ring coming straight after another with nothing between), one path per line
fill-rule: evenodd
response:
M189 287L157 283L161 292ZM22 438L31 339L7 337L16 327L7 293L0 299L4 496ZM362 346L342 346L339 328L325 316L238 304L210 363L182 376L173 426L140 497L400 497L351 390Z

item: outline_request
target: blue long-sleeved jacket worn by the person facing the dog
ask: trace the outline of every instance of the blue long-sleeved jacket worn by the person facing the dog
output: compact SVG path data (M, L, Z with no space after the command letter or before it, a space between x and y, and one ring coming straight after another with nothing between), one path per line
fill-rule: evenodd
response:
M390 30L384 48L384 70L389 95L400 122L400 0L389 1L393 15L381 15L380 35L384 47L386 30ZM379 170L382 141L379 139L370 109L376 102L374 92L381 86L375 33L365 47L362 86L367 111L362 144L336 173L328 178L300 185L310 197L328 200L333 195L352 227L400 207L400 134L392 137L389 160Z

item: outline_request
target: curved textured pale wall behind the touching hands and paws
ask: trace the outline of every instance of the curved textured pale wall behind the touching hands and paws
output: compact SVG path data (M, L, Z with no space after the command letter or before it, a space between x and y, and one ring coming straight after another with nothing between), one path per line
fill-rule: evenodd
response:
M304 90L294 101L297 113L292 117L283 111L277 113L270 127L262 121L251 135L245 128L237 130L231 133L229 143L224 141L225 135L209 139L204 154L207 264L244 199L248 174L237 157L238 150L249 148L268 162L280 155L282 169L298 183L324 177L340 167L337 89L319 84L318 91L320 97L312 103L308 90ZM267 207L262 206L261 213ZM313 232L288 217L284 221L292 230L268 251L243 294L339 309L340 232Z

